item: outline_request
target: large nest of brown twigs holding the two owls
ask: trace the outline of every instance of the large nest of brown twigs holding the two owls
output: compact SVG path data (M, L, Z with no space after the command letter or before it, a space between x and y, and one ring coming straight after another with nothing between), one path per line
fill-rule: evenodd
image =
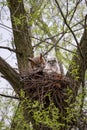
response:
M26 96L32 100L39 100L45 104L45 107L50 104L49 94L55 105L60 107L66 97L65 88L71 86L68 77L56 72L47 73L38 69L22 76L22 81Z

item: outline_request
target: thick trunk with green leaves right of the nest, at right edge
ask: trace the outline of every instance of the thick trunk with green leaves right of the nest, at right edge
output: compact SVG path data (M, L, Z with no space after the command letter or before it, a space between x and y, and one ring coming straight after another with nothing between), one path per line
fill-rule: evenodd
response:
M81 82L83 81L83 76L84 76L83 74L85 74L85 71L87 69L87 31L86 29L84 29L83 36L81 38L79 46L80 46L83 57L81 57L79 50L77 49L76 51L77 55L73 56L71 64L66 74L68 77L78 82L78 86L74 88L76 90L76 93L80 87ZM76 70L76 73L72 74L73 70Z

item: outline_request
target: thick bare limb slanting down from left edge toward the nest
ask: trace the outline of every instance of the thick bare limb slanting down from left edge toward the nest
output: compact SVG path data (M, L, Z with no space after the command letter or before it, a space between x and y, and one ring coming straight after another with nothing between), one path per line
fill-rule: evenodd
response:
M20 75L0 57L0 72L4 75L5 79L12 85L13 89L19 94L22 86L20 82Z

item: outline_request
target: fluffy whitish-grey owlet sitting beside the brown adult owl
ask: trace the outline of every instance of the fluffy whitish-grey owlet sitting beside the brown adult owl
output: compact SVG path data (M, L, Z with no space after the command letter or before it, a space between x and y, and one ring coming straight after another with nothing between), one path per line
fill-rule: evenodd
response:
M47 58L45 70L48 73L56 72L56 73L61 74L60 66L56 57Z

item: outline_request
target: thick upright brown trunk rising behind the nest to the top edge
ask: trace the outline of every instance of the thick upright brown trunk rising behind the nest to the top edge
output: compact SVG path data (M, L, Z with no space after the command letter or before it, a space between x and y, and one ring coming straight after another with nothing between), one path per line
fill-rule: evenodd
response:
M14 43L17 52L17 62L19 72L24 74L29 72L28 56L33 56L33 48L31 45L31 29L27 23L26 12L23 0L7 0L10 9L12 29L14 35Z

